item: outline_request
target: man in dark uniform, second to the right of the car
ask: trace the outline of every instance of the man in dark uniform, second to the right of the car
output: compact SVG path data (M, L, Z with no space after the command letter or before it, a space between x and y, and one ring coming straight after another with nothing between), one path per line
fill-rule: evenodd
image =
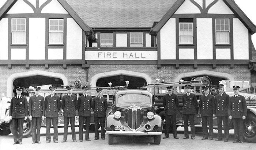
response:
M183 119L184 119L184 135L183 139L188 139L188 121L191 127L191 139L195 139L195 122L194 116L196 108L198 107L197 98L195 94L191 93L191 85L185 85L186 94L182 95L183 103Z

